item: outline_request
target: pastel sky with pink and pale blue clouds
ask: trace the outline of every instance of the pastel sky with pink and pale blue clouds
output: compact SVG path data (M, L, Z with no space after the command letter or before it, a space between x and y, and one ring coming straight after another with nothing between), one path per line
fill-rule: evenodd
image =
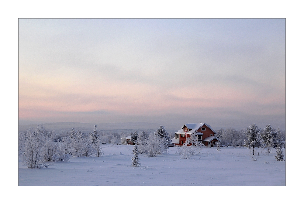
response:
M285 129L285 19L19 19L19 121Z

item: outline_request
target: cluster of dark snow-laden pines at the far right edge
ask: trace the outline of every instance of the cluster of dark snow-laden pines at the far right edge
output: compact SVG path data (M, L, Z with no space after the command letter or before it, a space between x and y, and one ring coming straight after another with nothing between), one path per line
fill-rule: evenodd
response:
M275 156L275 159L277 161L284 161L282 151L284 143L280 128L275 130L271 125L266 125L263 131L261 131L257 128L256 124L251 124L247 127L245 135L245 145L247 145L249 149L252 148L253 155L254 148L268 149L268 153L271 153L271 148L276 148L277 155Z

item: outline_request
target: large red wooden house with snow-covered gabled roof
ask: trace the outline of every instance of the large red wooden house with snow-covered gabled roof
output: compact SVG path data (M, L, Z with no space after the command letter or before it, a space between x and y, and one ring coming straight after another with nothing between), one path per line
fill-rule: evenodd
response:
M217 133L206 123L189 123L185 124L178 132L175 132L175 137L172 139L172 143L175 145L183 145L186 142L186 137L194 132L196 133L197 140L205 146L214 146L216 142L221 140L217 138Z

